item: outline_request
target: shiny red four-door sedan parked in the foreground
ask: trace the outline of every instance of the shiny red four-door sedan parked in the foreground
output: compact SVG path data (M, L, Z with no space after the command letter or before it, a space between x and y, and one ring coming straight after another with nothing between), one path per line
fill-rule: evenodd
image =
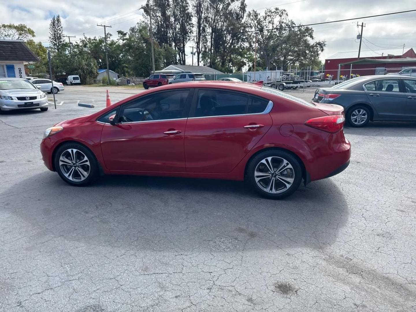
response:
M269 87L184 82L147 90L45 131L45 165L75 186L100 174L248 180L268 198L349 164L342 106Z

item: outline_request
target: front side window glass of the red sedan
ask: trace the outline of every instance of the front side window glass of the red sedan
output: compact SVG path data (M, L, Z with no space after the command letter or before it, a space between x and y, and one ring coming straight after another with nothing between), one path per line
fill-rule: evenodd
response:
M188 117L189 89L157 92L124 105L120 122L153 121Z

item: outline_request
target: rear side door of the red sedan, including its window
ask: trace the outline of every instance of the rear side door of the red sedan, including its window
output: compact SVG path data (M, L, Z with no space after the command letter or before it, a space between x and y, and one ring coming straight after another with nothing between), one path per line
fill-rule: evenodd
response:
M185 131L186 171L228 173L272 126L273 103L241 92L195 92Z

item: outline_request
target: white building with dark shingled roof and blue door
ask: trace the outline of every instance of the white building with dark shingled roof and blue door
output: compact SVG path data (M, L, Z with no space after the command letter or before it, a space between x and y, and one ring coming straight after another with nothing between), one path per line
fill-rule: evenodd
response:
M26 78L25 64L39 62L21 40L0 39L0 78Z

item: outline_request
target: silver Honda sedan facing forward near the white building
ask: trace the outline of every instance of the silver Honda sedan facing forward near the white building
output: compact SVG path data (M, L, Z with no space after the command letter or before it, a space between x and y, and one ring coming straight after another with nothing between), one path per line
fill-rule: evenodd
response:
M23 78L0 78L0 113L15 109L48 110L46 94Z

